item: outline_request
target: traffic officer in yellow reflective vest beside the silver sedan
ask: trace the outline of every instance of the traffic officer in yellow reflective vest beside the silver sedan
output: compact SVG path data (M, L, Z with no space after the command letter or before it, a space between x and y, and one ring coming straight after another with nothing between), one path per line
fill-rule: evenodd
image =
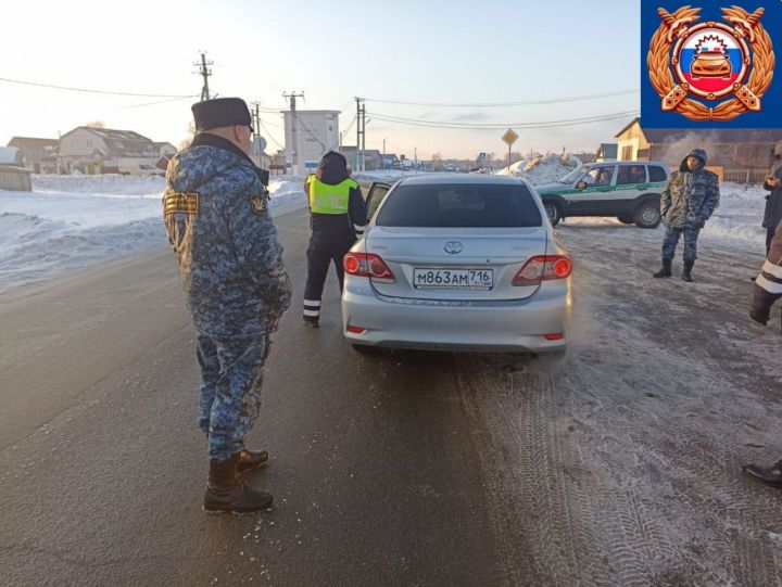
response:
M335 264L340 292L344 281L342 257L366 228L366 204L358 183L351 179L348 161L329 151L315 175L304 182L310 197L312 235L307 247L307 282L304 288L304 323L317 328L329 264Z

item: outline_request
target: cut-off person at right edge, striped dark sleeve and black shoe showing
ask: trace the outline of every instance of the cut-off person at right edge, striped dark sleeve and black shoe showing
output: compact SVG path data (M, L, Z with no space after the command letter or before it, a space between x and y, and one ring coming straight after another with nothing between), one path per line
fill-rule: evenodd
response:
M760 273L755 278L754 295L749 317L766 326L771 314L771 306L782 298L782 222L777 227L777 232L771 239L766 263L760 268ZM747 464L744 472L768 485L782 487L782 459L771 467L761 464Z

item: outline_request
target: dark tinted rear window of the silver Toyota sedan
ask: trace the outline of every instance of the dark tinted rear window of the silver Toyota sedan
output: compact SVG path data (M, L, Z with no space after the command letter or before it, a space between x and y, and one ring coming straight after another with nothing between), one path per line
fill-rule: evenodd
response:
M543 225L524 183L398 186L375 221L383 227L514 228Z

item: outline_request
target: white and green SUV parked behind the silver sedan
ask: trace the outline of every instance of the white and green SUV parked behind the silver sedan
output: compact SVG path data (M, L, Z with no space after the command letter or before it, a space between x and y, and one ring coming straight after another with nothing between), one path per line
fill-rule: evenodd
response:
M663 163L590 163L535 190L554 226L568 216L616 216L626 225L656 228L668 175Z

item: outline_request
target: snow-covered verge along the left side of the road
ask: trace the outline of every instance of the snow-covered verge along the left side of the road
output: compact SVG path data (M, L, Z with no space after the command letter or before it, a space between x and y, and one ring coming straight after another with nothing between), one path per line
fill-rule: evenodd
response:
M160 177L33 176L0 190L0 292L104 259L165 246ZM305 205L301 181L273 178L273 215Z

